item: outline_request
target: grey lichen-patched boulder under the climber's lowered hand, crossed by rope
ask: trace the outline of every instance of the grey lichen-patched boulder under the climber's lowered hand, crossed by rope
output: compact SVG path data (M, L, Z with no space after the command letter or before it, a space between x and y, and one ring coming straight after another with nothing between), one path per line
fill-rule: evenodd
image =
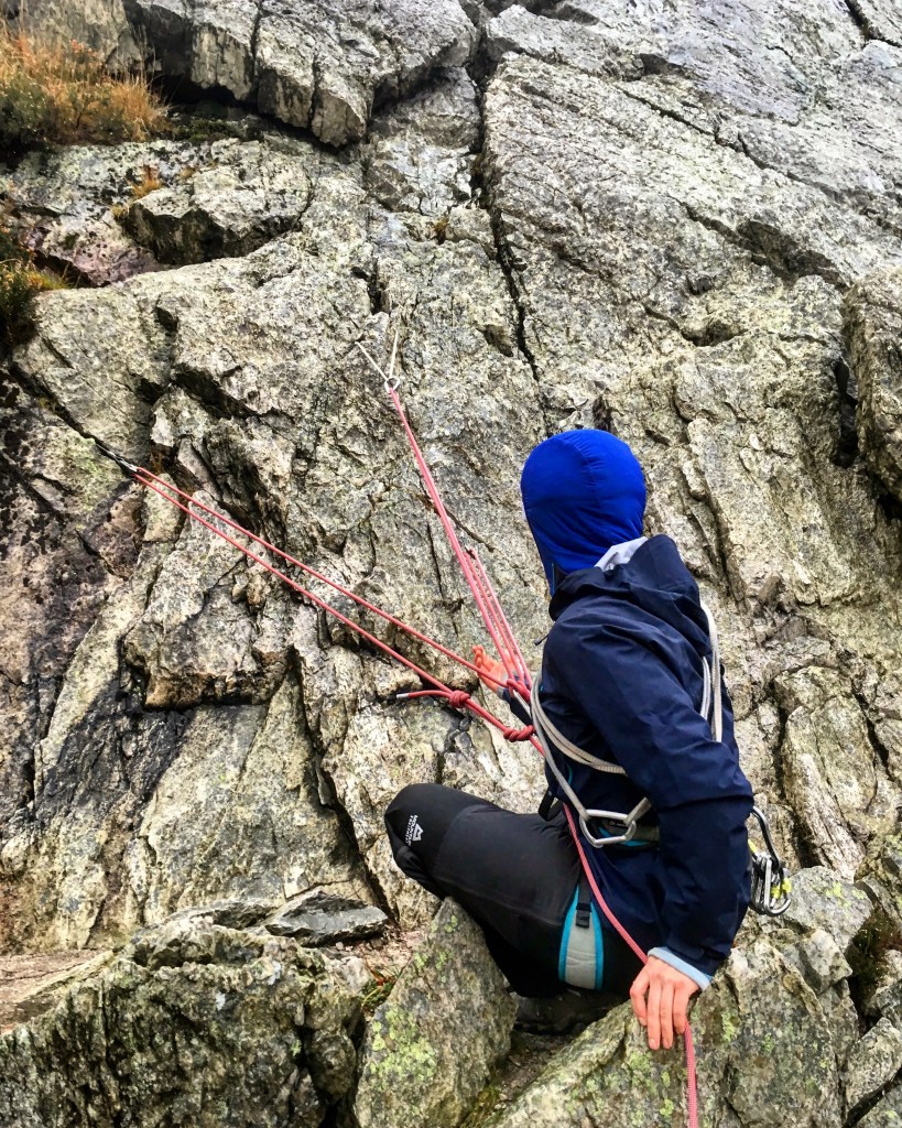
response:
M706 1078L699 1123L723 1123L727 1102L739 1123L841 1123L823 1012L802 977L766 942L733 953L726 978L696 1005L692 1029ZM682 1122L684 1077L680 1049L649 1054L630 1008L622 1006L556 1054L493 1123Z

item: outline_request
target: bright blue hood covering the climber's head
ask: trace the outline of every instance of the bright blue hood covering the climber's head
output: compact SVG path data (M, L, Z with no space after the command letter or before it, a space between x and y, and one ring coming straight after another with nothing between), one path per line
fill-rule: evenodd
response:
M563 573L592 567L611 545L642 536L645 477L607 431L564 431L539 443L520 490L552 593L556 565Z

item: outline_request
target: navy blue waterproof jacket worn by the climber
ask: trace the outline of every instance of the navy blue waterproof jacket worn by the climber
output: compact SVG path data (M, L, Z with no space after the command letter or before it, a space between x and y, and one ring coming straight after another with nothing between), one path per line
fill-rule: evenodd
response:
M542 706L565 737L627 777L561 754L558 766L585 807L626 812L645 795L652 812L642 821L660 825L656 849L584 843L602 895L643 949L667 948L713 975L749 905L752 790L726 691L722 742L698 712L710 654L698 587L658 536L627 564L569 573L550 614Z

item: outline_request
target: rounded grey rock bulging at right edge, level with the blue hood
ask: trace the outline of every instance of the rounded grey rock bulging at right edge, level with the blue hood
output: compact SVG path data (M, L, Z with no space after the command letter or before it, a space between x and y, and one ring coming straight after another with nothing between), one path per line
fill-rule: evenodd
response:
M863 279L843 308L861 450L873 473L902 501L902 268Z

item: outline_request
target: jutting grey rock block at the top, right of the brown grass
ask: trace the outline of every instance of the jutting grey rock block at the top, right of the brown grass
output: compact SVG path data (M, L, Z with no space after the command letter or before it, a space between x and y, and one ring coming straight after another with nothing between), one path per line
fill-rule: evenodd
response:
M125 0L169 76L222 87L330 146L364 136L374 104L467 62L476 28L457 0Z

